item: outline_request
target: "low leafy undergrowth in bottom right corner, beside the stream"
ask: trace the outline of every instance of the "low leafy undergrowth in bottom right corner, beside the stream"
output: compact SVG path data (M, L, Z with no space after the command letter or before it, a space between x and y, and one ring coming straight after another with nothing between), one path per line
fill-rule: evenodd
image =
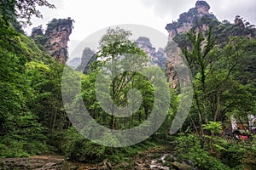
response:
M229 143L217 136L210 141L194 134L180 134L175 150L200 169L256 169L255 144Z

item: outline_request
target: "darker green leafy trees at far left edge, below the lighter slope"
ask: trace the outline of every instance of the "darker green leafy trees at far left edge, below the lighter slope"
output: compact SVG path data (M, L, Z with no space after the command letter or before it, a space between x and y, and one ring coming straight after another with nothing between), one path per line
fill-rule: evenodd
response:
M41 153L46 150L44 127L31 110L38 94L26 75L26 56L0 50L0 156Z

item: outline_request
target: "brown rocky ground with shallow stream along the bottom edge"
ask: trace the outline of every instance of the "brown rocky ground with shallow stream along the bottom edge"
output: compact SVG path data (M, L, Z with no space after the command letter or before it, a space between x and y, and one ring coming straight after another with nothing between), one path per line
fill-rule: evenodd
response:
M140 152L132 161L113 164L108 159L98 164L84 164L69 162L64 156L32 156L28 158L0 159L0 170L104 170L104 169L131 169L131 170L189 170L196 169L191 161L180 160L168 150L148 150Z

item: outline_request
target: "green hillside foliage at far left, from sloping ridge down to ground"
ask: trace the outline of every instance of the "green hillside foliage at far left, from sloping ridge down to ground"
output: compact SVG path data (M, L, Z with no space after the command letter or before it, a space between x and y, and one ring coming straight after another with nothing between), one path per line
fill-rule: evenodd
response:
M32 108L44 94L36 88L37 82L33 82L36 75L29 73L28 65L40 65L36 62L38 59L50 62L50 57L39 50L31 39L13 28L1 24L0 31L0 153L1 156L28 156L40 153L47 150L44 136L46 129L38 122L38 116ZM41 69L45 69L43 66L42 64ZM40 68L34 69L38 70L38 76L41 76ZM32 86L32 83L35 86Z

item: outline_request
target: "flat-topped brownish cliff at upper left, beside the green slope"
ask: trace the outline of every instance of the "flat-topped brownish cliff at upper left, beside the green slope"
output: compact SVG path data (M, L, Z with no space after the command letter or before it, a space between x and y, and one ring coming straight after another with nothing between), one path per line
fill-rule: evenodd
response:
M61 63L67 62L67 42L72 33L73 20L53 19L47 25L45 34L43 34L42 26L32 30L32 38L43 45L53 59L59 60Z

